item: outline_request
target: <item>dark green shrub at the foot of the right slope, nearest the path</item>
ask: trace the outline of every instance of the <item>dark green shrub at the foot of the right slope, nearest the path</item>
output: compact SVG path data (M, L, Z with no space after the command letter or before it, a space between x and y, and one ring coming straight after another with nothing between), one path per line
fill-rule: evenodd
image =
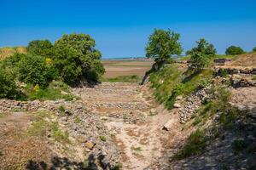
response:
M201 129L197 129L189 135L189 139L183 150L180 150L174 157L177 160L181 160L189 156L199 155L203 153L206 148L207 138L205 137L205 133Z

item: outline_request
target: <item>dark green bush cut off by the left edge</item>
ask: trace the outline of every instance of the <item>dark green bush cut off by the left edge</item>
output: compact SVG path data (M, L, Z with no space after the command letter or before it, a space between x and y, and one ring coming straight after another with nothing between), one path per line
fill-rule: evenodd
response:
M15 99L17 98L17 86L14 77L3 68L0 68L0 98Z

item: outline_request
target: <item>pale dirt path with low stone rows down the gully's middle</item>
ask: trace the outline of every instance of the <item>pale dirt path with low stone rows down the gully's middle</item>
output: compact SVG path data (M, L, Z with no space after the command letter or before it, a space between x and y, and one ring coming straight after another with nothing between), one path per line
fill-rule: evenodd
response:
M106 120L109 133L122 150L123 169L150 167L163 151L166 132L162 127L170 119L170 113L152 106L146 97L147 90L134 83L103 82L79 92L91 111Z

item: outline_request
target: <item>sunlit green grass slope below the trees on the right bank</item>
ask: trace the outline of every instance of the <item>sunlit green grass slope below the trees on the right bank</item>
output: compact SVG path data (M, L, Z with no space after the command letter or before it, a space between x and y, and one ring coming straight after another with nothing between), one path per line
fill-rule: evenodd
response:
M161 71L153 72L149 81L154 88L154 97L172 109L178 95L188 95L196 88L205 87L212 79L213 71L206 69L197 73L181 71L170 65Z

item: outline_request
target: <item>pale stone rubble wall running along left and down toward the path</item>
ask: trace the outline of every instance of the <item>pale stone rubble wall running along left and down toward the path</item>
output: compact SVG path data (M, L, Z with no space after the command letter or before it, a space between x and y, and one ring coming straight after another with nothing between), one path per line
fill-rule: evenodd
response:
M63 107L65 111L59 108ZM87 110L82 101L16 101L0 99L0 112L12 111L53 111L61 128L79 142L90 160L100 161L97 169L114 167L119 161L119 149L113 143L100 116ZM110 168L109 167L109 168Z

